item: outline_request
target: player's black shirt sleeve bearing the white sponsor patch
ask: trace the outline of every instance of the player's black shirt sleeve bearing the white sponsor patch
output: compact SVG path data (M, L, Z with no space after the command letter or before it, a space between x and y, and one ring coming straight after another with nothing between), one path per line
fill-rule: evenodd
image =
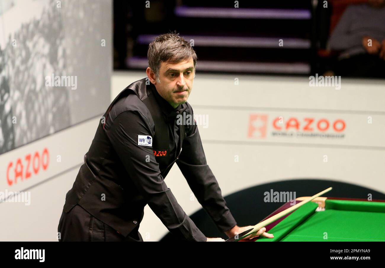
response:
M181 239L206 241L164 182L152 147L138 145L138 135L153 137L149 122L137 110L122 112L107 131L131 180L166 228Z

